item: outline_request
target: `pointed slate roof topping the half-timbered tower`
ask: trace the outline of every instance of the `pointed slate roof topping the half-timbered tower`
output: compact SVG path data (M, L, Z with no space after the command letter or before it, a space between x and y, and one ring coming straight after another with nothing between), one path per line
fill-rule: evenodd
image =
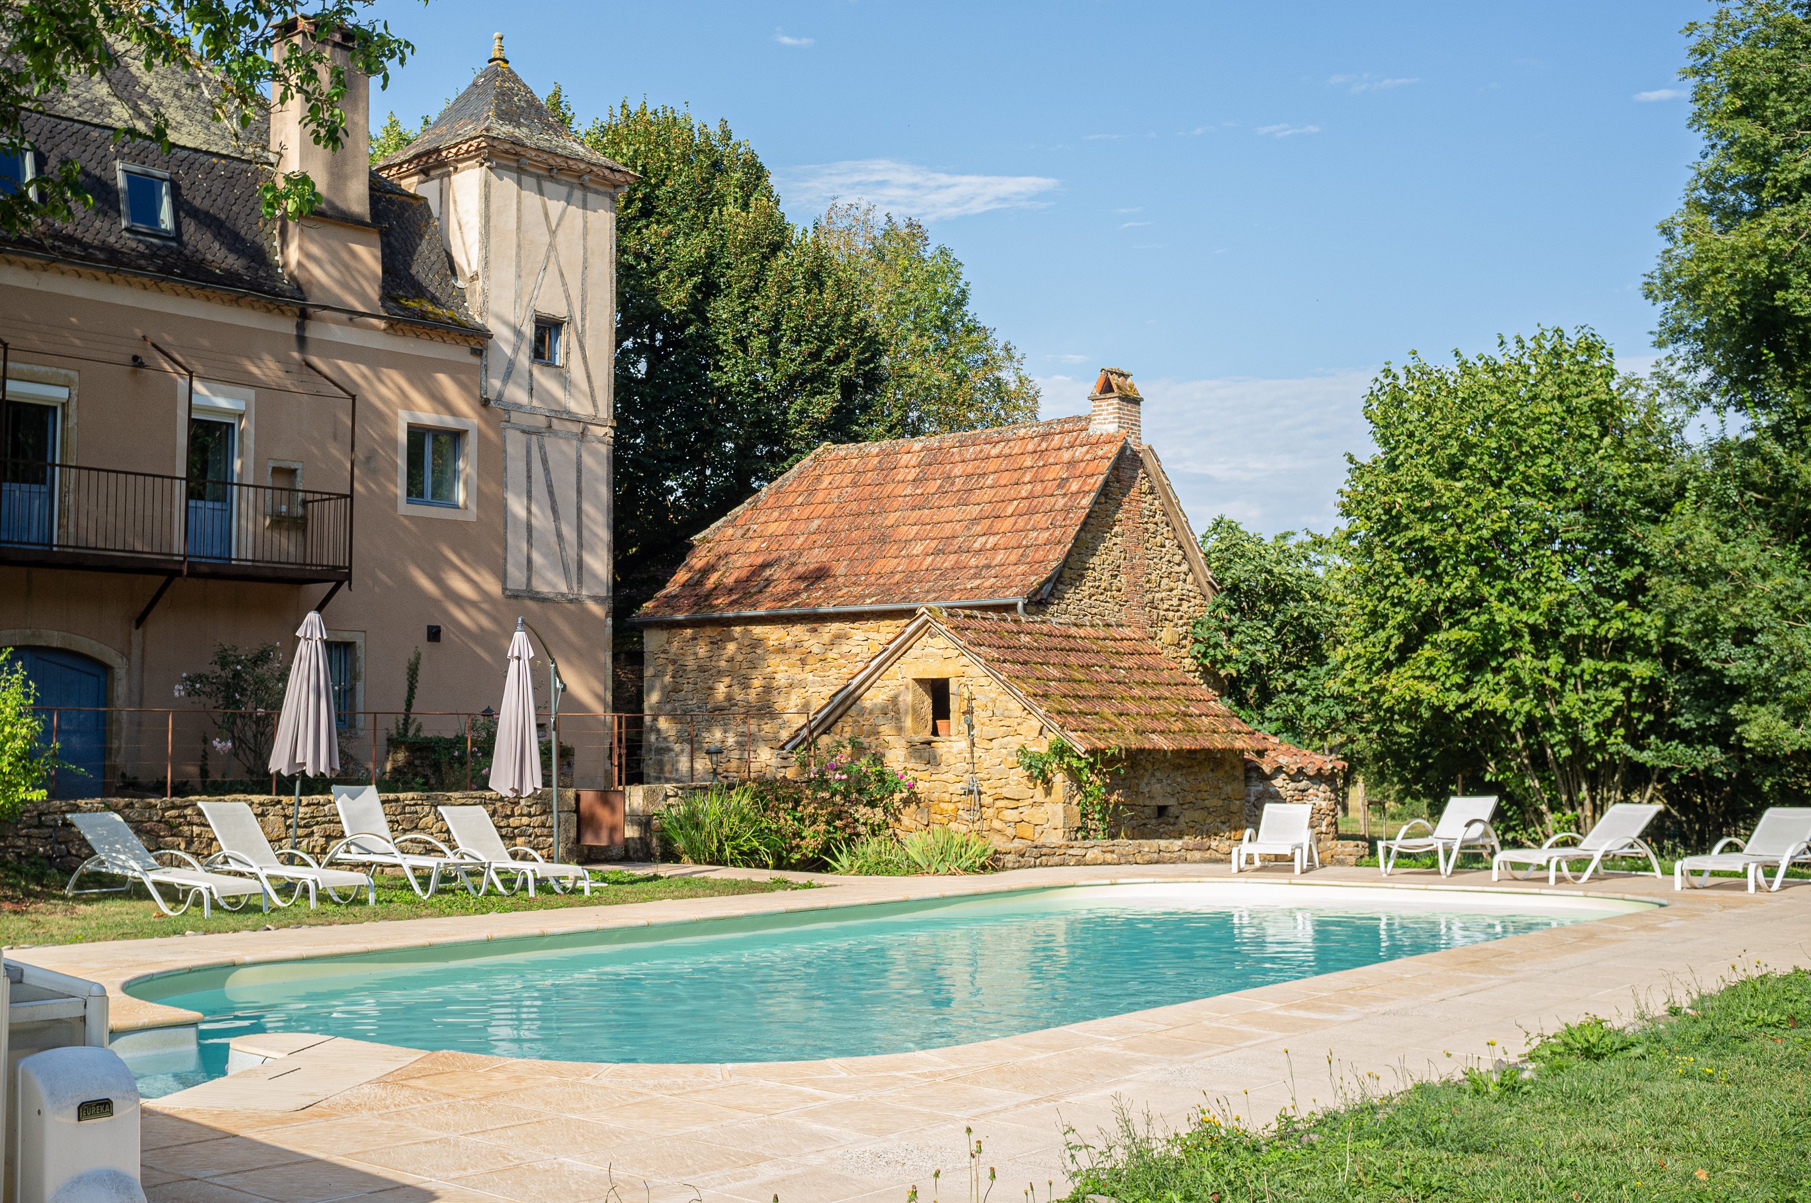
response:
M491 62L478 78L460 92L446 112L407 147L377 165L384 174L418 161L462 158L467 149L484 143L509 147L543 167L590 172L608 183L627 185L636 174L603 158L580 141L534 94L509 60L503 58L503 34L496 34Z

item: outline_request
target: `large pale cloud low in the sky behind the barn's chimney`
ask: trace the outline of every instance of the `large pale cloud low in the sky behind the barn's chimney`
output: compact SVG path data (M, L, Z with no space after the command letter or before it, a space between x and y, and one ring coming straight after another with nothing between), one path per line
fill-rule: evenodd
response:
M1266 534L1331 531L1346 453L1375 453L1360 408L1373 375L1362 368L1293 380L1139 380L1145 440L1197 531L1215 515ZM1038 384L1041 417L1088 411L1092 377Z

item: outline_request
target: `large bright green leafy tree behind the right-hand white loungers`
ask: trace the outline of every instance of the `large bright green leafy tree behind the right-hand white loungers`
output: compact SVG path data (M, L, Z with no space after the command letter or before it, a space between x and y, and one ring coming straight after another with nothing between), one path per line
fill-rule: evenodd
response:
M1365 395L1338 533L1338 692L1360 755L1425 795L1469 777L1525 813L1590 821L1650 795L1664 705L1644 605L1648 482L1677 426L1590 332L1411 353Z

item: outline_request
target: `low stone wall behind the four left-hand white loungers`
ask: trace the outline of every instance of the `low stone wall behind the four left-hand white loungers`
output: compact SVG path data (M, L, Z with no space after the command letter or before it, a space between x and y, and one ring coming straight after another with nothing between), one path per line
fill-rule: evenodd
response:
M552 855L552 817L547 812L551 790L538 795L514 799L491 792L471 794L384 794L384 817L397 835L422 832L435 839L447 841L447 826L440 819L436 806L484 806L491 812L505 846L525 844L543 857L572 861L578 852L578 815L572 812L570 790L560 794L560 842L563 855ZM114 810L127 821L127 826L145 842L145 848L176 848L197 861L206 861L219 844L208 821L196 803L246 803L257 815L270 839L272 848L290 844L292 797L273 797L268 794L246 794L235 797L96 797L96 799L49 799L27 803L16 823L0 823L0 855L18 862L42 857L63 871L74 871L91 855L87 841L69 824L63 815L69 812ZM344 837L339 812L326 794L304 794L301 824L297 826L297 848L315 857L326 855L328 848Z

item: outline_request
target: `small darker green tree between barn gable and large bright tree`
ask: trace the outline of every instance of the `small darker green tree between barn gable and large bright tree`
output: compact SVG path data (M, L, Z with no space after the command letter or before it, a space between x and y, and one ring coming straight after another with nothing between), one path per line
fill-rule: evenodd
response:
M1221 589L1195 621L1195 659L1219 674L1241 719L1331 750L1346 716L1329 688L1338 600L1327 540L1295 531L1266 540L1221 515L1201 536L1201 554Z

